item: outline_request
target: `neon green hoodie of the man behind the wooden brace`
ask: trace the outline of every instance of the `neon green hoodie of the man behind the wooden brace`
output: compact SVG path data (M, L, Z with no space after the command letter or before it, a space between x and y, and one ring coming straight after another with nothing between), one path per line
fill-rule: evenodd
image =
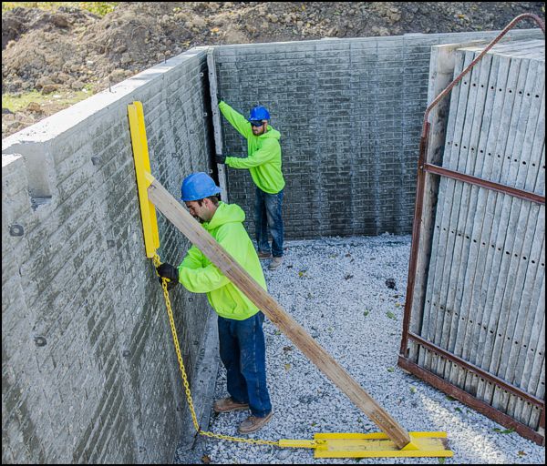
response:
M219 202L211 221L203 223L202 227L211 233L212 238L215 238L263 289L266 289L260 260L251 238L243 227L244 219L245 213L237 204ZM212 309L223 318L248 319L259 310L195 246L190 248L179 266L179 281L184 288L194 293L207 293Z

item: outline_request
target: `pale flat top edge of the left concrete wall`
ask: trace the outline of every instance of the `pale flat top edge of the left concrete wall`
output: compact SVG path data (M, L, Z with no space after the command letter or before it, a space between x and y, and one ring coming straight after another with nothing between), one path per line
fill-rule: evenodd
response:
M152 66L135 76L111 86L85 100L69 106L56 114L46 117L31 127L2 139L2 153L13 153L15 147L25 143L43 143L58 137L82 121L106 109L108 106L125 104L124 97L130 96L143 86L150 86L171 70L189 62L196 57L204 56L208 47L194 47L178 56L173 56L164 63ZM4 158L3 158L4 163Z

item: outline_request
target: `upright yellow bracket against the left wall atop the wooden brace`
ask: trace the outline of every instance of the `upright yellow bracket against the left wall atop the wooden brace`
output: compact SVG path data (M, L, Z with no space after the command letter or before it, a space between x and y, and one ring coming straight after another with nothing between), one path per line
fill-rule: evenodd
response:
M129 104L128 115L133 159L135 160L135 173L137 175L137 187L139 189L140 218L142 219L142 231L144 233L144 247L146 248L146 257L153 258L156 254L156 249L160 248L160 234L158 233L156 208L148 197L148 187L154 181L154 177L150 175L150 158L142 103L133 102Z

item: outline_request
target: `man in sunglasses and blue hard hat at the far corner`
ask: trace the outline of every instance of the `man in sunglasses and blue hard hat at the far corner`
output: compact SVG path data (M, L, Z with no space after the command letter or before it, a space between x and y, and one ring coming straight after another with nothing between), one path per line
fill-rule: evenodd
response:
M271 258L268 268L274 270L283 263L284 177L281 171L279 131L268 126L270 113L263 106L255 106L246 119L221 101L219 109L243 137L247 139L247 157L216 156L216 162L232 168L248 168L256 185L254 226L259 258ZM272 251L268 241L272 236Z

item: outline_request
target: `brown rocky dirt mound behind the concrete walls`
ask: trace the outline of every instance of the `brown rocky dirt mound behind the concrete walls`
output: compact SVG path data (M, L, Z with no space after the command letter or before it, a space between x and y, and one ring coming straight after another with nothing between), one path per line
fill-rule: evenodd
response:
M192 46L501 29L542 2L122 2L99 17L61 7L2 13L2 93L98 92ZM525 21L520 27L533 27ZM34 106L32 104L35 104ZM57 112L3 108L2 136Z

